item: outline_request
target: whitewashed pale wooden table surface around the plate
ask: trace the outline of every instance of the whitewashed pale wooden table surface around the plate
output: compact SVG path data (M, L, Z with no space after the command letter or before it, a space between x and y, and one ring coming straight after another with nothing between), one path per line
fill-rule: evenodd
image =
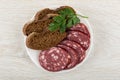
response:
M38 10L70 5L89 16L94 50L72 72L41 72L29 59L22 27ZM0 0L0 80L120 80L120 0Z

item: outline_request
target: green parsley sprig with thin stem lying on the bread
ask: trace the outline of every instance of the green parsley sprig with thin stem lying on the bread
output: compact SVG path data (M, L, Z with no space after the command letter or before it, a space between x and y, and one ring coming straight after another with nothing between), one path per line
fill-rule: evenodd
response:
M72 27L73 25L80 22L80 19L77 17L78 14L70 8L65 8L60 10L58 16L53 17L53 22L49 24L48 29L50 31L59 30L61 33L65 32L67 28ZM78 15L83 18L86 16Z

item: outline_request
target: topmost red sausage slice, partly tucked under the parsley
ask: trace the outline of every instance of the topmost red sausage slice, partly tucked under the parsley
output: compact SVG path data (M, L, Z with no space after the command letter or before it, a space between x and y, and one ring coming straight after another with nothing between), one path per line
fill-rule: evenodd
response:
M70 28L70 30L72 30L72 31L80 31L80 32L82 32L85 35L90 37L89 31L88 31L86 25L83 24L83 23L79 23L79 24L74 25L73 27Z

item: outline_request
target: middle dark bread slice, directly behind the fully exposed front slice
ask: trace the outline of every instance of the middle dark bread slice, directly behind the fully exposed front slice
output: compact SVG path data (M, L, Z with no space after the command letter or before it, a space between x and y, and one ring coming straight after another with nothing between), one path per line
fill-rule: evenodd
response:
M24 35L28 36L32 32L42 32L44 29L48 27L48 25L52 22L52 19L42 20L42 21L32 21L28 22L23 27Z

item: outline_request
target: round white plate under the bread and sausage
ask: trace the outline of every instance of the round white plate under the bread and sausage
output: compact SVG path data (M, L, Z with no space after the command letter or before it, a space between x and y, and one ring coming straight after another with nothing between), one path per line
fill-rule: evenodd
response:
M79 11L77 11L77 10L76 10L76 12L77 12L77 14L83 15L81 12L79 12ZM33 20L33 19L34 19L34 17L32 18L32 20ZM80 67L80 65L82 65L82 64L86 61L86 59L88 58L88 56L89 56L89 54L90 54L90 52L91 52L91 50L92 50L92 47L93 47L93 31L92 31L91 25L89 24L88 20L85 19L85 18L80 18L80 20L81 20L82 23L84 23L84 24L87 26L87 28L88 28L88 30L89 30L89 32L90 32L90 36L91 36L91 38L90 38L90 46L89 46L89 48L88 48L87 51L86 51L86 57L85 57L85 59L84 59L80 64L78 64L76 67L74 67L74 68L72 68L72 69L69 69L69 70L62 70L62 71L59 71L59 72L71 71L71 70L74 70L74 69L77 68L77 67ZM26 41L26 37L25 37L25 41ZM24 41L24 42L25 42L25 41ZM25 47L26 47L26 45L25 45ZM39 64L39 59L38 59L38 58L39 58L40 50L33 50L33 49L30 49L30 48L27 48L27 47L26 47L26 50L27 50L27 53L28 53L30 59L33 61L33 63L35 63L35 65L36 65L37 67L39 67L41 70L46 71L46 70L44 70L44 69L40 66L40 64ZM49 71L47 71L47 72L49 72Z

